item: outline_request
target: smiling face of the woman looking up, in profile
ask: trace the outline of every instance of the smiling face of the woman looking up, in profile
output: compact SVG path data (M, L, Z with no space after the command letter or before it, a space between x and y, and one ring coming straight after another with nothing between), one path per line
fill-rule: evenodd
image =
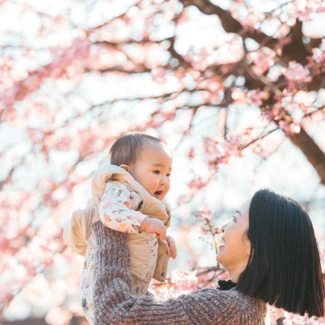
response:
M251 250L250 241L246 236L249 226L249 205L250 200L239 208L232 221L221 227L223 235L216 260L226 267L230 274L239 275L248 263Z

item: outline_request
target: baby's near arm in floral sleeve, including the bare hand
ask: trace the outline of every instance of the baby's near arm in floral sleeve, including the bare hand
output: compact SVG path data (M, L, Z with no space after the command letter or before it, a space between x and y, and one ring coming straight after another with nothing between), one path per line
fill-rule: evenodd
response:
M132 196L129 188L122 182L108 182L99 203L100 220L110 229L128 233L142 231L156 233L157 238L162 239L166 235L163 223L135 211L140 201L140 198L137 200L136 196Z

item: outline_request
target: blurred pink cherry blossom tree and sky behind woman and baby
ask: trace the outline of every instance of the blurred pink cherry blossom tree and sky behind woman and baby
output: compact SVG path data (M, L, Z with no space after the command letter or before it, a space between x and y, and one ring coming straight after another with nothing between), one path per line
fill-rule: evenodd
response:
M130 130L173 154L178 257L156 294L226 277L215 227L261 187L305 207L324 255L324 1L2 0L0 15L2 324L87 324L62 232Z

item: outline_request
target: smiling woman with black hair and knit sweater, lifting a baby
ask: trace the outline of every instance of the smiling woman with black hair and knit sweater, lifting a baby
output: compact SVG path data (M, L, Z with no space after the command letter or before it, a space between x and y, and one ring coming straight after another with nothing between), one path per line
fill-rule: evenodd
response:
M167 301L132 296L127 234L100 221L93 227L96 252L101 251L94 270L96 325L261 325L267 321L266 303L300 315L324 316L325 290L309 216L297 202L271 190L257 191L222 227L216 259L229 272L228 287Z

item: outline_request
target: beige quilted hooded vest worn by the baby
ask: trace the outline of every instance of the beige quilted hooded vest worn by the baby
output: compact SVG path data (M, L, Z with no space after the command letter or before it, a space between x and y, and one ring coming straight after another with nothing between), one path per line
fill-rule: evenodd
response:
M160 201L149 195L143 186L123 168L105 163L98 168L92 177L91 193L93 198L88 200L85 209L76 210L72 214L63 232L63 239L67 245L80 255L85 255L88 245L96 249L97 242L91 224L99 219L100 195L105 191L106 183L112 180L128 183L141 195L143 201L139 211L142 214L160 219L166 227L170 225L170 206L165 199ZM165 281L170 256L166 241L157 241L155 234L142 232L128 234L128 244L131 253L131 273L146 282L155 265L154 255L156 255L157 263L153 278L158 281Z

